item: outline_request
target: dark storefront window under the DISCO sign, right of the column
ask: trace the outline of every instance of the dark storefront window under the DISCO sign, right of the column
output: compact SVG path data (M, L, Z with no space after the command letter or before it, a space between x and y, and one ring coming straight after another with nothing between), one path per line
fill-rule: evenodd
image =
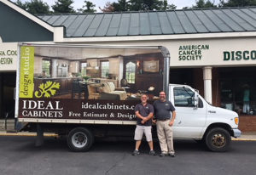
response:
M256 115L255 67L220 69L221 107L239 115Z

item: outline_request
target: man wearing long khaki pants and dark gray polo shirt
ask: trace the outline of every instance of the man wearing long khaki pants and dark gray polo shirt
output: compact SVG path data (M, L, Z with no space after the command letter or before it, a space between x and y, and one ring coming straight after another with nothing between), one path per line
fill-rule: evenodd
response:
M161 157L170 155L175 157L173 149L172 125L176 112L170 101L166 100L166 93L160 92L160 99L154 101L154 116L157 128L157 136L160 142ZM171 117L172 112L172 117Z

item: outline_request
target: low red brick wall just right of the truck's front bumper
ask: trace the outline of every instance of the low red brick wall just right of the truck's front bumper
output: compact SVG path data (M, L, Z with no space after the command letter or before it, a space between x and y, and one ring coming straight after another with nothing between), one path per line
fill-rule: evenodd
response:
M238 128L243 133L256 133L256 116L239 116Z

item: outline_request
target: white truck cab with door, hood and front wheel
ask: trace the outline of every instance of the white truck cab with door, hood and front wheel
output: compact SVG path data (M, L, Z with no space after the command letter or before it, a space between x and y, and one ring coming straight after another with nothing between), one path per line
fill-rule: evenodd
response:
M173 137L189 138L205 142L213 151L225 151L230 138L241 135L238 129L238 114L212 106L198 91L187 85L170 84L169 99L177 116Z

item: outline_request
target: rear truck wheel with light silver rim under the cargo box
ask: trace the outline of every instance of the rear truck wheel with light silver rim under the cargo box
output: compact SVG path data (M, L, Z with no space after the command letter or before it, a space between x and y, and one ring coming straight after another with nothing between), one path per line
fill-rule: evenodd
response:
M85 127L76 127L67 135L67 145L75 152L87 151L94 142L94 136Z

